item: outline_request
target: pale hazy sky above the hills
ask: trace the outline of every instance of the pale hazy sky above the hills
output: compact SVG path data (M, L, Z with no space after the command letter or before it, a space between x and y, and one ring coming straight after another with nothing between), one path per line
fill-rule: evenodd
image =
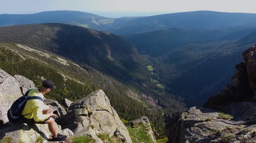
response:
M0 0L0 14L75 10L107 17L210 10L256 13L255 0Z

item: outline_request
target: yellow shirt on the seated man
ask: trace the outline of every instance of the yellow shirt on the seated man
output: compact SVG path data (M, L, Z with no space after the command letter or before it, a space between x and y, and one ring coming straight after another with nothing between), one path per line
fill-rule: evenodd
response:
M30 96L38 96L44 99L44 95L42 95L37 88L32 89L28 93L28 97ZM22 115L29 115L24 116L27 119L34 119L35 122L45 121L50 117L50 114L42 114L42 110L44 109L44 102L38 99L31 99L28 100L23 111Z

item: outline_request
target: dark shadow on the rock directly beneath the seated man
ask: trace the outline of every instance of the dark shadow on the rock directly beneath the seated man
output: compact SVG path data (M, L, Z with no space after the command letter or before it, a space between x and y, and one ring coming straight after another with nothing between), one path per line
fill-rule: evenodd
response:
M29 131L33 129L34 131L36 131L37 133L39 133L41 135L41 137L43 137L44 139L48 140L48 137L45 135L44 132L41 132L37 126L35 124L26 124L23 122L19 122L19 123L6 123L4 124L2 127L0 127L0 140L3 139L5 137L6 134L11 133L11 132L17 132L19 130L23 130L23 131ZM19 134L17 133L13 133L13 134Z

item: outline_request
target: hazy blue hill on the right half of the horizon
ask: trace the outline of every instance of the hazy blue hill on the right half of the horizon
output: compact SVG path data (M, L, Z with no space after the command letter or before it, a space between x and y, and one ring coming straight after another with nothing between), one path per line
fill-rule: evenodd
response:
M118 35L135 34L163 30L167 28L185 28L190 30L235 27L237 30L256 25L256 14L227 13L214 11L193 11L136 18L130 23L111 27L111 33Z

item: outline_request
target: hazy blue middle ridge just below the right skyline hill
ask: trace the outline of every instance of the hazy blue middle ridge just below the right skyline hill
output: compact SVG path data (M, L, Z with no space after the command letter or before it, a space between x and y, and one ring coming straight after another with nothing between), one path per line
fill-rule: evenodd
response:
M170 28L167 30L146 32L133 35L123 35L123 39L133 44L140 53L147 53L151 56L162 56L169 51L186 44L203 44L222 40L230 40L237 36L233 28L222 28L216 30L184 30L181 28Z

